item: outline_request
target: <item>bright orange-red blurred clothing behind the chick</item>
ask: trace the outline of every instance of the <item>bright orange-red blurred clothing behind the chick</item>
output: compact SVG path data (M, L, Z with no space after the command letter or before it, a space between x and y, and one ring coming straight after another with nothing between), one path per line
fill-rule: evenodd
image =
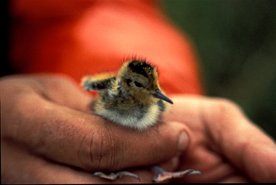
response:
M124 58L158 66L168 93L200 94L196 57L152 1L11 1L10 59L19 73L82 77L116 71Z

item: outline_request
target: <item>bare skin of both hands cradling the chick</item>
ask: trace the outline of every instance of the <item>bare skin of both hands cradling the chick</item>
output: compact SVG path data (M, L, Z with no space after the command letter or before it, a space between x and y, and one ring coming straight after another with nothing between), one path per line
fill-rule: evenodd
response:
M174 182L275 182L276 146L228 100L169 96L162 123L130 131L89 111L92 98L66 77L1 78L1 183L137 183L96 171L200 170ZM169 182L169 181L167 181Z

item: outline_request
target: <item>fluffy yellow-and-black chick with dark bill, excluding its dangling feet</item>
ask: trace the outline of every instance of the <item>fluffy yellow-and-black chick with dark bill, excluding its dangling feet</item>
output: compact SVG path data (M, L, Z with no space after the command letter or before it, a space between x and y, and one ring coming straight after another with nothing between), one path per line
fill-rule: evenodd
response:
M125 127L144 130L156 124L172 100L160 91L158 73L145 60L124 63L118 75L85 77L83 87L101 91L93 102L96 114Z

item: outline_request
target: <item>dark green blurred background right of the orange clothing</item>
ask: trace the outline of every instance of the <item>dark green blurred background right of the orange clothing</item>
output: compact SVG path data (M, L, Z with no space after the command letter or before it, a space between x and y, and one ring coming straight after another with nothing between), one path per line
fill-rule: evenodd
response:
M276 139L276 1L161 1L193 41L205 93L236 102Z

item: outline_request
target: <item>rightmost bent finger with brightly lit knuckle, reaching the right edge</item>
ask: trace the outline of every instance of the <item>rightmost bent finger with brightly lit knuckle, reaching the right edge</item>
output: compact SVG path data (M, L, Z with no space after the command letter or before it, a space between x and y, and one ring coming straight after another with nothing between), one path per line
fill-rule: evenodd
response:
M229 101L212 100L204 106L206 111L202 118L212 145L218 146L218 150L252 180L275 182L276 145L273 140Z

